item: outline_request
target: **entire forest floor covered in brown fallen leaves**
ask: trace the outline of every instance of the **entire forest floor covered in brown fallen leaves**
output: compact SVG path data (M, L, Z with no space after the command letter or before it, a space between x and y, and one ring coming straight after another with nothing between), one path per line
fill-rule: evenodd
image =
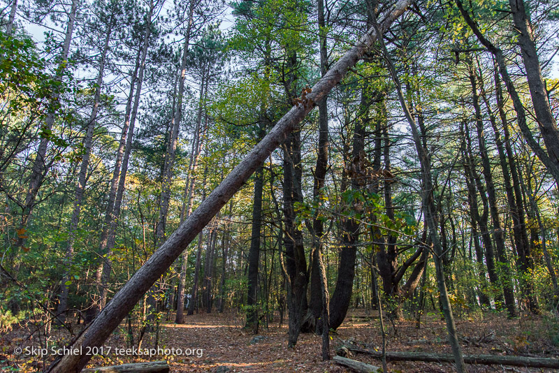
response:
M172 353L149 358L134 358L115 354L115 348L126 349L126 332L117 330L106 342L111 348L106 356L96 356L91 367L122 363L167 360L171 372L347 372L332 361L321 361L321 338L302 334L295 349L286 348L287 326L270 323L269 328L260 328L258 342L251 343L254 333L242 329L243 319L238 314L195 314L187 317L187 323L176 325L162 323L159 332L161 349L181 349L183 355ZM434 314L424 316L421 328L415 321L386 321L389 335L387 351L425 351L450 353L446 342L447 331L444 321ZM463 352L468 355L495 354L531 357L559 358L559 323L546 316L524 314L518 319L507 319L504 314L484 313L456 319L461 336ZM30 356L25 352L14 355L15 347L31 346L27 328L15 328L0 337L0 371L37 372L52 356L41 360L37 353ZM154 346L155 335L150 333L142 348ZM332 335L331 352L343 341L367 344L381 349L381 336L377 317L364 312L353 312L344 324ZM49 348L50 350L50 348ZM25 350L24 350L25 351ZM48 351L50 353L50 351ZM168 351L167 351L168 352ZM189 356L185 356L187 353ZM358 354L356 360L381 366L379 360ZM452 372L450 364L421 362L389 362L391 372ZM468 365L469 372L551 372L524 367L499 365Z

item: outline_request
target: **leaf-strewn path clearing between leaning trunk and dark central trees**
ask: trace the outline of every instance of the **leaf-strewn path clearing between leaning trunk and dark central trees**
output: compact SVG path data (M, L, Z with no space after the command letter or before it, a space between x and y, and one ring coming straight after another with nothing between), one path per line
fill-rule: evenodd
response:
M301 335L296 348L287 349L286 333L285 323L282 328L275 323L260 328L263 338L251 343L254 333L243 330L233 316L203 314L187 317L184 325L166 324L162 343L203 349L202 358L170 360L173 372L215 372L219 367L229 372L345 372L332 362L321 362L319 337Z

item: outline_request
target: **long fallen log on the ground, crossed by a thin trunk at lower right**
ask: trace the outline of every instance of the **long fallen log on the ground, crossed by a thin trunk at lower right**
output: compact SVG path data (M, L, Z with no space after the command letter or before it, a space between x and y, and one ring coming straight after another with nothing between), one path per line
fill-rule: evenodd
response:
M380 351L370 351L368 349L361 349L358 346L347 344L344 346L351 352L366 353L374 358L382 358L382 352ZM386 360L454 363L454 357L450 353L386 352ZM464 355L464 363L559 369L558 358L528 358L527 356Z

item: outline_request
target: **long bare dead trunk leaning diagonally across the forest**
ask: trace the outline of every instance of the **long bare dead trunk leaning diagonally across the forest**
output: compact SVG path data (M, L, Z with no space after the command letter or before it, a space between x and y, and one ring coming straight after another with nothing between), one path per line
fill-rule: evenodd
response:
M387 13L380 24L383 33L411 3L411 0L400 0ZM217 186L203 203L185 220L164 244L148 259L148 261L124 284L120 291L101 311L99 316L71 344L72 349L88 351L88 347L101 346L115 330L124 316L136 305L144 293L173 264L188 244L210 222L212 217L221 210L227 201L241 188L250 175L270 156L296 126L307 116L314 106L337 85L363 57L377 40L375 28L369 29L361 40L351 47L340 60L319 80L312 92L293 106L289 112L279 119L274 128L263 140L252 149L247 157L235 167L226 179ZM55 360L46 372L71 373L80 372L87 364L89 355L66 355Z

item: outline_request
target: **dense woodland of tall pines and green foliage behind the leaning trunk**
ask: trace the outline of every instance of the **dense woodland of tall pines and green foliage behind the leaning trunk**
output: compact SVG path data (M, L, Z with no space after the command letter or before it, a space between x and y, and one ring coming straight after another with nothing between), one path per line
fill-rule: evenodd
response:
M308 100L392 6L1 2L0 332L92 321L293 105L318 108L129 313L131 344L194 312L289 316L291 346L348 309L557 320L559 3L416 1Z

